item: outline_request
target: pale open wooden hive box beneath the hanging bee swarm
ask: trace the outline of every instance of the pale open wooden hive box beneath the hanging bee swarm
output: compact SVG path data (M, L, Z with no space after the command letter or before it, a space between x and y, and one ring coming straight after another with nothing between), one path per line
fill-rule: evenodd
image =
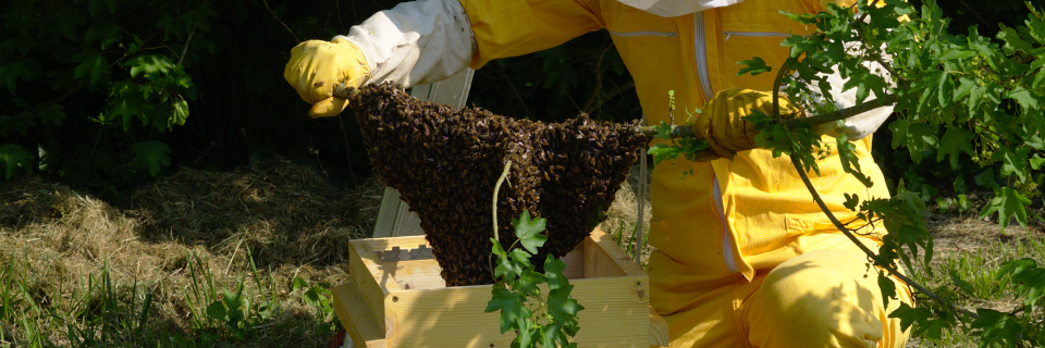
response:
M483 312L492 286L446 287L423 236L351 245L351 278L332 291L354 347L512 346L515 334L501 334L500 313ZM579 347L667 346L646 272L605 233L595 229L563 261L570 294L585 307L574 337Z

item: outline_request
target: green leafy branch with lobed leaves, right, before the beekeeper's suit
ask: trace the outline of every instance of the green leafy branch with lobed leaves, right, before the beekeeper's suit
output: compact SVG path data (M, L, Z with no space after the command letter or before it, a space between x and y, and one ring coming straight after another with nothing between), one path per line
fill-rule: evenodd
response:
M915 163L935 151L936 161L947 162L955 170L968 158L983 169L978 184L995 192L980 216L996 213L1001 228L1010 219L1026 226L1026 208L1032 204L1029 197L1040 195L1038 187L1045 182L1045 174L1040 172L1045 166L1045 112L1041 102L1045 100L1045 14L1028 3L1025 25L1003 25L996 40L992 40L980 36L975 27L966 35L949 34L948 20L933 1L926 1L921 11L899 0L878 4L858 1L855 9L828 5L826 12L817 14L788 14L795 21L815 26L816 33L784 40L790 58L777 71L774 112L754 113L747 119L759 129L757 141L760 147L772 149L774 156L790 157L820 209L868 254L872 264L941 306L933 309L901 304L890 315L899 318L905 328L913 323L915 334L938 339L944 328L962 325L981 337L981 347L1043 345L1045 328L1035 318L1045 311L1045 269L1030 260L1017 260L1005 263L995 274L997 279L1019 278L1013 293L1024 303L1020 311L980 308L973 312L959 308L899 272L899 262L907 269L920 266L932 272L929 263L933 239L922 217L925 204L921 197L902 187L889 199L861 200L855 194L846 194L846 207L858 213L864 227L872 232L875 226L885 227L885 233L877 235L882 245L874 252L859 243L849 224L841 223L827 208L807 173L819 174L817 163L824 159L825 149L832 147L823 144L824 138L812 126L892 104L895 119L888 128L893 132L893 148L908 149ZM910 20L900 21L901 17ZM872 67L874 64L868 62L878 66ZM747 66L740 74L772 71L759 58L742 64ZM847 79L843 89L856 91L856 107L837 110L832 86L826 83L826 74L832 72ZM807 113L817 115L780 119L780 95L800 104ZM664 158L699 156L681 149L679 145L688 140L675 139L690 137L688 126L654 128L659 138L671 139L657 149ZM856 146L846 135L836 137L835 145L845 171L870 187L873 183L861 172ZM951 279L959 288L968 287L955 275ZM882 272L878 283L888 301L896 294L894 283Z

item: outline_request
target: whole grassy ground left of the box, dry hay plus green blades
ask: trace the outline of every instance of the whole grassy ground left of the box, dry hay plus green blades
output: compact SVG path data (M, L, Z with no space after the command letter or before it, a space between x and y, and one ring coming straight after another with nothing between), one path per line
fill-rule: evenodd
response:
M0 347L324 347L379 186L286 161L183 169L119 204L0 187Z

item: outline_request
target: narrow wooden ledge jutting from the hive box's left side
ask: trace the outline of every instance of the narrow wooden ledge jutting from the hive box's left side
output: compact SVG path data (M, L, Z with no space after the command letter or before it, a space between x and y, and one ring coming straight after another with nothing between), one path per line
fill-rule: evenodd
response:
M353 346L384 348L384 323L366 306L349 277L348 283L330 289L334 296L334 313L341 320L345 332L352 337ZM384 316L383 313L380 316Z

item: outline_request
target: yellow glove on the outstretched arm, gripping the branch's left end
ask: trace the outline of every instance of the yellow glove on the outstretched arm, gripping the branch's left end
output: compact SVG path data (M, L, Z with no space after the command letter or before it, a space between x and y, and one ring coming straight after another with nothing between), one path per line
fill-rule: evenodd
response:
M334 86L344 83L358 88L369 77L362 51L342 38L298 44L283 69L283 78L312 104L308 115L314 119L336 116L348 107L347 100L333 97Z

